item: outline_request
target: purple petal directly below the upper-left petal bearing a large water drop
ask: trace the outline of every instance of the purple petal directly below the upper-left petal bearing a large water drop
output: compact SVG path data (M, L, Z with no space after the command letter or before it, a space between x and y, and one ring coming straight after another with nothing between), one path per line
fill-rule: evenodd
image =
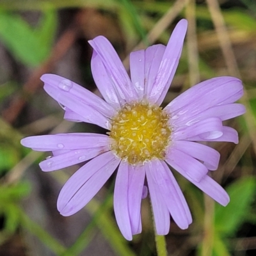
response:
M105 129L109 128L108 118L106 116L102 115L94 107L85 104L80 99L77 99L77 97L74 97L71 93L62 91L58 88L54 88L47 83L44 84L44 90L60 104L81 116L83 118L83 122L96 124Z

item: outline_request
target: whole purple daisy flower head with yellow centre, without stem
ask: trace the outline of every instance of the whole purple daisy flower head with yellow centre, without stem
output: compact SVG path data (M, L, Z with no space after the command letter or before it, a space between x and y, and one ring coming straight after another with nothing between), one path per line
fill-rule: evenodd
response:
M160 107L179 63L186 29L187 21L180 20L166 46L131 52L131 78L104 36L90 40L92 74L104 100L63 77L41 77L45 92L64 106L65 119L109 130L107 134L54 134L21 141L33 150L52 152L40 163L44 172L87 161L61 189L60 214L70 216L82 209L116 169L114 210L127 240L141 232L141 198L147 191L157 234L169 232L170 215L182 229L192 222L169 166L219 204L228 204L225 190L208 175L218 168L220 154L198 141L238 143L236 130L223 121L245 112L243 105L234 103L243 95L241 81L209 79Z

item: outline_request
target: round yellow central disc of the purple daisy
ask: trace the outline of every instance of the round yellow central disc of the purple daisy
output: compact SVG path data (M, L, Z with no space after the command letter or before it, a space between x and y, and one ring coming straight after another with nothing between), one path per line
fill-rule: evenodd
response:
M111 118L111 150L130 164L163 159L171 134L168 119L158 106L145 102L125 104Z

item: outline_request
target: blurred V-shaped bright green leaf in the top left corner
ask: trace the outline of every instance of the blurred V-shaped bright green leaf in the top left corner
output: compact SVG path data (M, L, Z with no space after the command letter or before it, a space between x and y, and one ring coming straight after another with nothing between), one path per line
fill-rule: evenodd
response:
M44 12L37 28L19 15L0 12L0 40L22 63L35 66L47 58L56 31L56 12Z

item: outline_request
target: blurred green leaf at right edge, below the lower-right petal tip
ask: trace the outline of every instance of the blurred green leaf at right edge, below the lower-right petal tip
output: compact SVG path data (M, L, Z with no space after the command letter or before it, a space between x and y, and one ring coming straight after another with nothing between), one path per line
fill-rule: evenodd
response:
M215 229L223 235L232 235L250 210L250 204L255 196L256 180L246 177L234 182L227 189L230 203L227 207L216 205Z

